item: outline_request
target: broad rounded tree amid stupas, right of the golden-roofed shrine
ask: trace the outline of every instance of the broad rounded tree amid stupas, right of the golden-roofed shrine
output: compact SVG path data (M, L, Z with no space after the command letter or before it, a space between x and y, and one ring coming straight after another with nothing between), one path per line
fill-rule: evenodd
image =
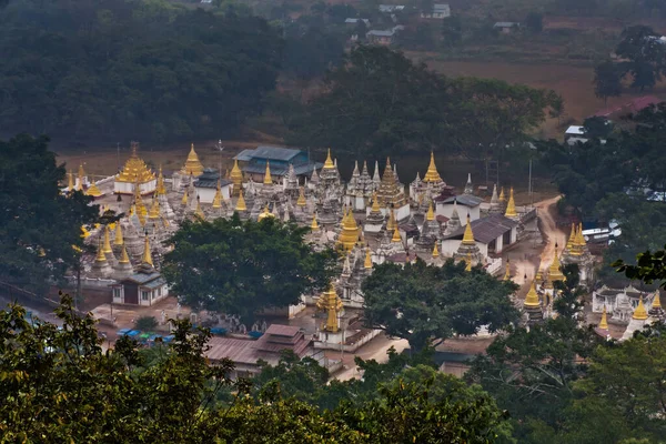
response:
M420 351L431 340L472 335L484 325L494 332L516 321L509 300L515 290L478 268L468 273L453 260L442 268L384 263L363 282L365 319Z

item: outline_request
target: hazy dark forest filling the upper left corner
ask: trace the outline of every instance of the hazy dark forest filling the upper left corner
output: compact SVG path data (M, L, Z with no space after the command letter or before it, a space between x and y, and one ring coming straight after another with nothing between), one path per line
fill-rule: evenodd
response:
M0 10L0 119L54 138L219 137L260 111L282 40L253 17L154 1Z

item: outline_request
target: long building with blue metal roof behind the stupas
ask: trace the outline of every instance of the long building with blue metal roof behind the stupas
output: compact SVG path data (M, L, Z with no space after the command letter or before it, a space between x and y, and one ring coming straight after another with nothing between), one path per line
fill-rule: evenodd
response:
M296 175L312 174L312 170L321 169L323 163L313 162L306 152L283 147L256 147L254 150L243 150L234 159L240 162L245 174L260 179L266 171L266 162L271 165L271 175L283 176L289 172L289 165L294 165Z

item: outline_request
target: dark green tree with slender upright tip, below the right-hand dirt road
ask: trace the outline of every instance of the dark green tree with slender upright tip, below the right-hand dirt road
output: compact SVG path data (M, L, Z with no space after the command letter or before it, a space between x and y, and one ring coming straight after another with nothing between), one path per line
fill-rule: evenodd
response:
M491 393L506 408L519 442L528 441L535 422L557 427L562 410L571 405L573 384L586 374L585 359L602 341L593 331L579 329L579 302L575 268L563 270L566 282L556 282L561 295L554 302L557 317L543 324L509 327L476 357L466 377Z

